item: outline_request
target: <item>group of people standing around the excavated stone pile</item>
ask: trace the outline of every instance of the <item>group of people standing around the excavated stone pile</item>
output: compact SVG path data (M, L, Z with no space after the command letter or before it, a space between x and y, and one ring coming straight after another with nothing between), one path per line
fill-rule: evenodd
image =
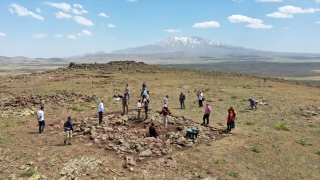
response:
M141 99L138 100L137 102L137 112L138 116L137 118L141 120L140 114L141 114L141 109L144 109L145 111L145 119L148 119L148 111L149 111L149 91L147 89L147 84L144 82L142 84L142 91L140 95ZM199 107L203 107L203 101L204 95L201 90L197 92L197 97L199 100ZM169 104L169 96L166 95L164 100L163 100L163 107L161 110L161 114L163 116L163 126L167 128L168 126L168 116L171 114L168 104ZM183 92L180 93L179 96L179 101L180 101L180 106L181 109L185 109L185 101L186 96ZM124 94L122 97L122 105L123 105L123 114L128 114L128 105L129 105L129 100L130 100L130 88L129 85L126 84L126 87L124 89ZM250 108L257 109L257 102L253 98L249 98L248 101L250 102ZM209 104L206 104L206 107L204 109L204 115L203 115L203 123L202 125L209 125L209 117L211 114L211 107ZM103 112L104 112L104 101L101 100L101 102L98 105L98 115L99 115L99 124L102 124L103 120ZM228 117L227 117L227 130L231 131L233 128L235 128L235 117L236 117L236 112L233 109L233 107L230 107L228 109ZM45 119L44 119L44 106L41 106L40 110L37 112L37 120L39 122L39 133L43 133L44 127L45 127ZM67 121L64 123L64 130L66 132L66 138L64 140L64 144L69 144L71 145L71 139L72 139L72 122L71 122L71 117L69 116L67 118ZM157 138L159 135L156 127L154 126L154 123L151 123L151 126L149 127L149 133L151 137Z

